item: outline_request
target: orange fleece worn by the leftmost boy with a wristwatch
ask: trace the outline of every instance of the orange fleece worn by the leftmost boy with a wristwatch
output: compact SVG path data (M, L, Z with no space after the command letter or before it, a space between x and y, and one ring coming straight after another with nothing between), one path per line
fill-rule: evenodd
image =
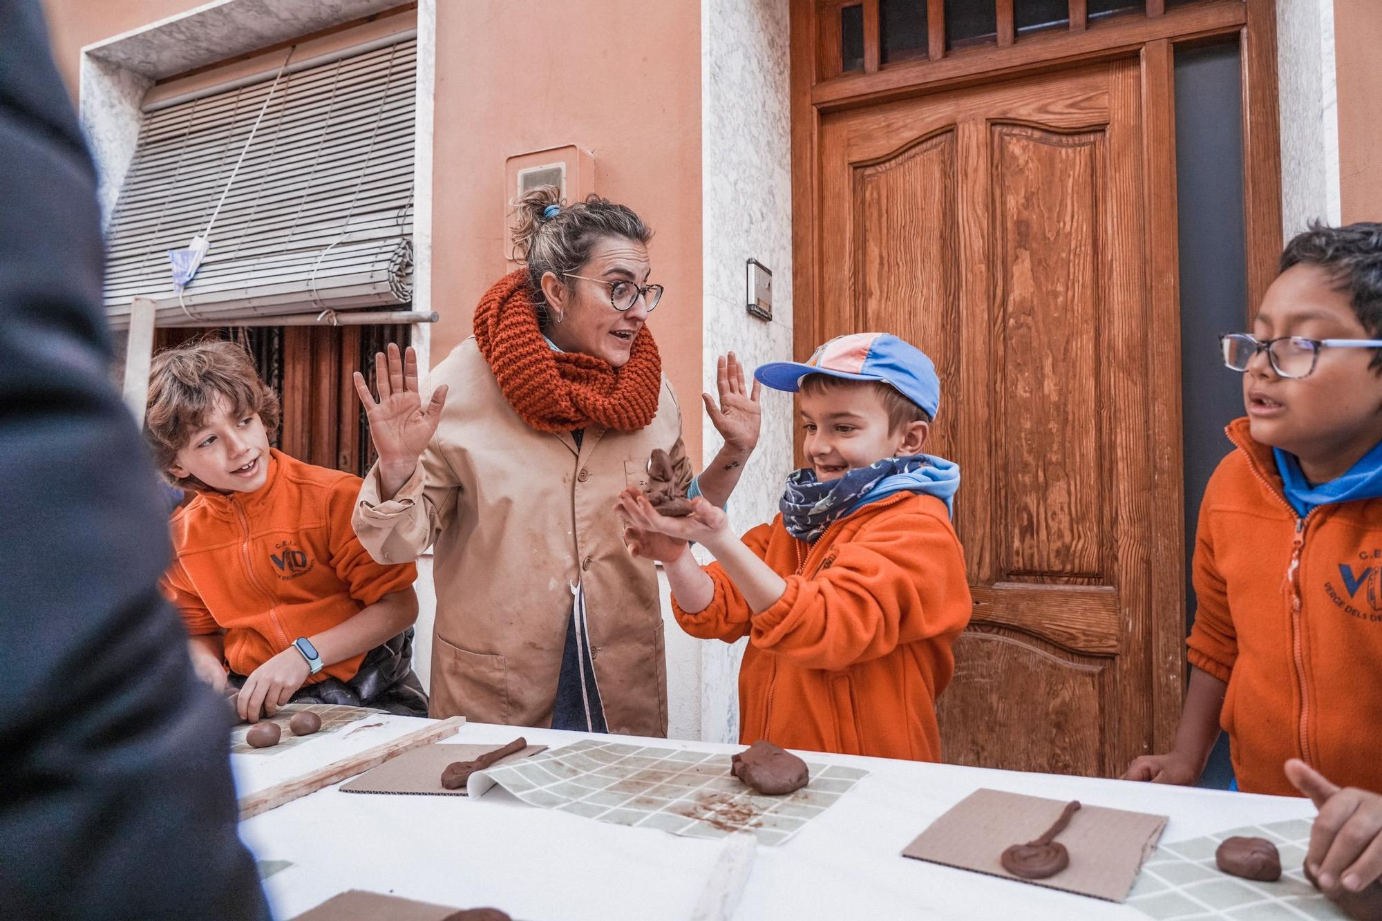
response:
M193 636L225 631L225 661L249 675L299 636L341 624L413 584L412 563L380 564L351 528L359 477L269 452L254 492L200 492L173 516L163 588ZM365 660L328 665L350 680Z

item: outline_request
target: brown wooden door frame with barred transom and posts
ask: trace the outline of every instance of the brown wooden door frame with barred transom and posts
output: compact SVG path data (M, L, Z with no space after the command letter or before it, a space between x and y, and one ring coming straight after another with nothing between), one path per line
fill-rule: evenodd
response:
M1153 671L1151 744L1171 747L1180 719L1186 679L1184 476L1180 415L1180 292L1176 252L1175 46L1237 35L1242 65L1242 176L1248 314L1277 274L1281 253L1281 145L1277 115L1274 0L1206 0L1165 10L1147 0L1146 15L1128 14L1090 24L1085 0L1070 0L1070 28L1019 37L1012 0L994 0L995 43L947 51L943 0L927 4L929 47L922 59L880 64L879 0L862 0L864 66L840 73L839 11L858 0L789 0L792 119L792 282L793 351L797 360L820 344L817 332L817 203L821 118L831 112L915 98L962 86L998 83L1079 64L1137 57L1142 77L1143 195L1148 303L1165 336L1148 336L1154 390L1177 394L1158 400L1150 419L1157 470L1151 499L1151 610L1158 622L1150 638ZM1247 319L1247 317L1245 317ZM1164 326L1161 326L1164 324ZM797 451L800 449L797 434Z

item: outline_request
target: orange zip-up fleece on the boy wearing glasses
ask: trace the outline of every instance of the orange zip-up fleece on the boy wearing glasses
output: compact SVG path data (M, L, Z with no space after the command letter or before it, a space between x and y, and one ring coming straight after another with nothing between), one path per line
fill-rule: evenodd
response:
M1302 758L1336 784L1382 791L1382 499L1287 502L1248 420L1209 478L1195 537L1190 662L1229 682L1220 723L1238 788L1299 797Z

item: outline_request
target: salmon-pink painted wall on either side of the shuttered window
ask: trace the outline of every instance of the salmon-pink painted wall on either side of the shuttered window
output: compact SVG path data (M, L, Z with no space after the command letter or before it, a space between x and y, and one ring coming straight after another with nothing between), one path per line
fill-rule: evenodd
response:
M304 0L305 1L305 0ZM202 0L44 0L76 94L80 50ZM504 160L576 144L596 191L654 228L650 326L701 456L701 4L691 0L439 0L433 198L433 362L470 335L506 270Z

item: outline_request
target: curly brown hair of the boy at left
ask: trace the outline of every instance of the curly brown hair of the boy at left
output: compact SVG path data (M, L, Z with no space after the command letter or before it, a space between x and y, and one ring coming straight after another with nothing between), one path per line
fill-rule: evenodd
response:
M224 339L200 339L153 357L144 438L153 462L169 481L184 490L205 490L196 477L176 477L177 452L188 445L225 400L236 415L258 415L268 431L278 430L278 394L260 380L249 354Z

